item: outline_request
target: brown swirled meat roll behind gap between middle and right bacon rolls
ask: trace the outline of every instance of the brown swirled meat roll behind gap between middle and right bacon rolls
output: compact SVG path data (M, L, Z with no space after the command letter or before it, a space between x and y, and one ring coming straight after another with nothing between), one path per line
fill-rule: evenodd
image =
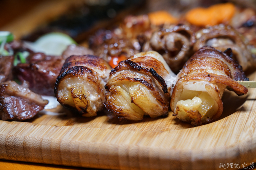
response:
M193 26L183 24L164 26L153 33L150 39L151 49L163 55L170 68L178 72L192 55L192 47L196 41L194 29ZM143 51L147 51L147 48L145 44Z

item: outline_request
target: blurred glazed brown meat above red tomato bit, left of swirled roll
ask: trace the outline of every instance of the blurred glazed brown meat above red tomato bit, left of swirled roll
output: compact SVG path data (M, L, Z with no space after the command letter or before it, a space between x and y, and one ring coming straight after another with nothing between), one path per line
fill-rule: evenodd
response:
M128 16L119 27L99 30L90 40L95 55L109 62L111 56L124 55L126 58L141 51L137 36L150 30L147 15ZM147 34L147 33L146 33Z

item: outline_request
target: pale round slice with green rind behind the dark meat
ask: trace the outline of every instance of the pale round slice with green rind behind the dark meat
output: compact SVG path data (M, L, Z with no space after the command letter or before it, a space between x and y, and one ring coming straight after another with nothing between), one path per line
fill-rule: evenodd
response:
M48 33L33 42L25 44L34 52L42 52L46 55L61 55L70 44L77 44L71 37L64 33Z

